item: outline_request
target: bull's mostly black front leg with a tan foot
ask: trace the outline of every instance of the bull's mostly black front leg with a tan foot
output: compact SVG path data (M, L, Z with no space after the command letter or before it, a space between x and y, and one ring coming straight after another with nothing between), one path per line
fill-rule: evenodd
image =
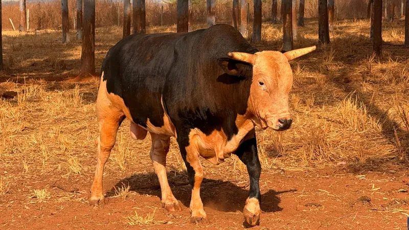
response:
M260 224L260 187L259 179L261 173L261 165L257 153L256 133L253 129L245 136L245 141L239 146L235 154L246 165L248 176L250 177L250 191L246 204L244 206L243 215L245 221L250 225Z

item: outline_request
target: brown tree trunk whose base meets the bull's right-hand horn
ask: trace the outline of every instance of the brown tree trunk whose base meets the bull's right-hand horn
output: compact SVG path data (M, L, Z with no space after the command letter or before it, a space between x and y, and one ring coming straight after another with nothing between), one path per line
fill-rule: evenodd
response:
M293 49L292 44L292 0L282 0L283 52Z

